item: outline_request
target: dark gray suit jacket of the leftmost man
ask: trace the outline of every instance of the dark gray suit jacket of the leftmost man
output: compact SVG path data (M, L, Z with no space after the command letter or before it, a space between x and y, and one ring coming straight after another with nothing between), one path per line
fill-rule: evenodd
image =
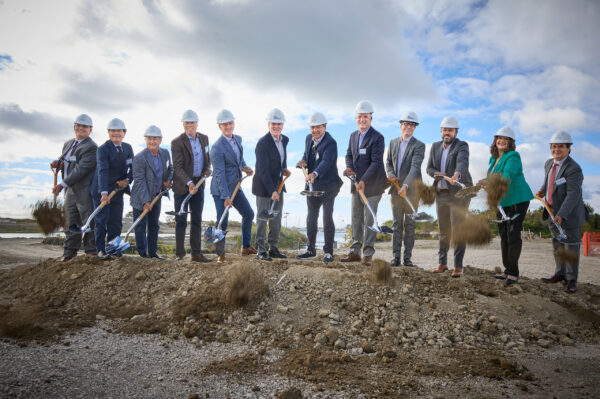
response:
M69 150L74 141L75 139L73 138L65 142L63 145L63 154ZM71 158L75 158L69 162L67 177L65 178L63 174L63 181L77 196L89 195L90 184L96 170L97 149L98 145L91 137L88 137L79 143L75 151L71 152Z

